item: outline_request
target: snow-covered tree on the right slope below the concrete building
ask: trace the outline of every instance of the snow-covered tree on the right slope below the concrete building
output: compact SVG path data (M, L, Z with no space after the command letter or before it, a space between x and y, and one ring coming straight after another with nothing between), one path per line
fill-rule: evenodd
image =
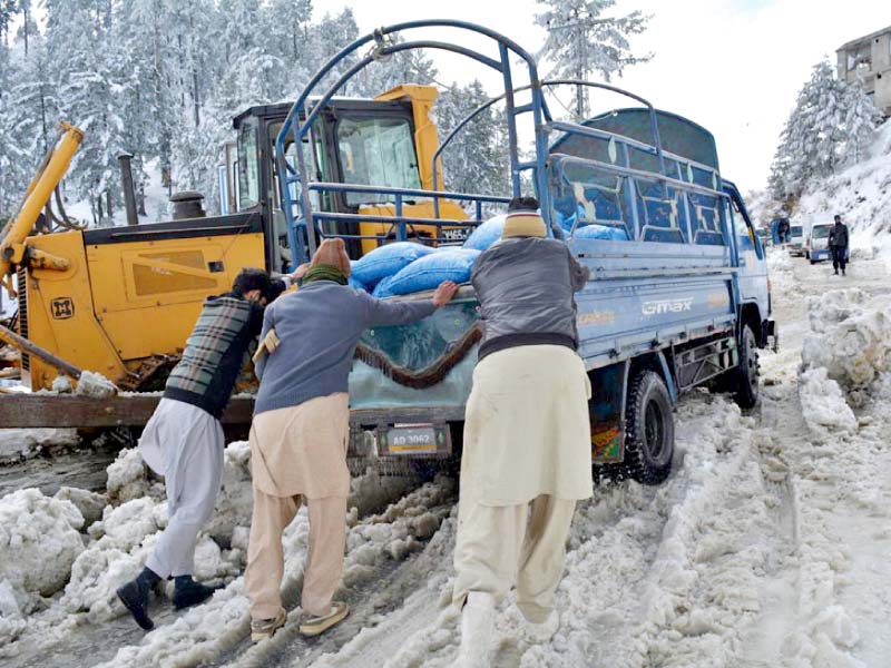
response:
M768 178L773 197L797 198L809 184L858 161L878 119L860 86L838 79L829 60L819 62L780 136Z

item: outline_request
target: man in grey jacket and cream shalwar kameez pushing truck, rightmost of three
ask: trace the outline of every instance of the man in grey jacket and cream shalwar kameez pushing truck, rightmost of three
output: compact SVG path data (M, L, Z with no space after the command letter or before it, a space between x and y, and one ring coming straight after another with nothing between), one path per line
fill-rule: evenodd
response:
M472 276L483 338L464 422L453 591L466 668L489 665L495 608L515 573L528 639L557 630L569 524L594 491L574 296L588 269L546 238L537 208L510 203L501 240Z

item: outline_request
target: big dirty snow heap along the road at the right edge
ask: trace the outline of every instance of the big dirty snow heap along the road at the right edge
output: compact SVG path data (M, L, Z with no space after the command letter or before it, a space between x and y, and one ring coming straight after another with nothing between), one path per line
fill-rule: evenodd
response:
M807 297L810 332L802 344L803 367L824 367L848 392L870 385L888 371L891 317L870 302L860 288Z

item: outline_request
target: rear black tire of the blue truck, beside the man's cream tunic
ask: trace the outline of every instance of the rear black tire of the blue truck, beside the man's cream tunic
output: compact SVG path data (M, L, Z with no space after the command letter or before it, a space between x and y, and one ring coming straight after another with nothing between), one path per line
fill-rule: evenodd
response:
M642 484L659 484L672 472L675 421L662 376L645 370L628 385L625 411L625 469Z

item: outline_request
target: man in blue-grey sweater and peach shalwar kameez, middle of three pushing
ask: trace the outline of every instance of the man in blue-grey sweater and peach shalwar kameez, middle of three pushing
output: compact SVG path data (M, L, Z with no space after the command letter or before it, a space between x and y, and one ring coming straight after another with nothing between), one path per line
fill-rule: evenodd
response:
M261 380L251 428L254 513L245 588L251 637L272 636L282 608L282 533L305 502L310 546L303 571L300 630L315 636L349 612L333 601L343 570L349 430L347 376L366 327L419 321L448 304L458 286L447 282L430 299L384 302L346 285L350 258L343 239L325 239L302 287L280 297L263 320L257 360Z

